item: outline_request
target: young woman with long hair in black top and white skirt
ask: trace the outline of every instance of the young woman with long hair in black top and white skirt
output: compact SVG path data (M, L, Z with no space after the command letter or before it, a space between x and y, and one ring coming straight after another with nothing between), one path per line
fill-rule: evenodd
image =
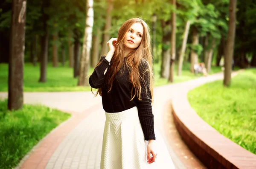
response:
M173 169L154 130L148 25L140 18L127 20L107 45L108 54L89 78L96 95L102 96L106 115L101 169Z

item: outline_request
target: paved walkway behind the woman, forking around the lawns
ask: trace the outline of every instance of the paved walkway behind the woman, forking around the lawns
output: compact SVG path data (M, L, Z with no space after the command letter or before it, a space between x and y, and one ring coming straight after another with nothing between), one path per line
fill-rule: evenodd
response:
M154 121L162 134L177 169L204 169L189 151L175 129L166 108L180 91L223 79L223 73L156 87L154 89ZM0 99L7 93L0 93ZM105 113L101 97L91 92L24 93L24 103L44 104L71 113L72 118L50 132L16 168L21 169L99 169ZM182 106L182 103L181 103Z

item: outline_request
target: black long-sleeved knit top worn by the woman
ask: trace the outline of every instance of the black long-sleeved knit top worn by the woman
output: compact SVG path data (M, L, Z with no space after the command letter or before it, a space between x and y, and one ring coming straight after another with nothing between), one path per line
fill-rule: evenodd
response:
M126 59L126 58L124 58ZM145 73L143 77L145 77L145 81L147 85L141 82L141 99L138 100L137 96L131 100L131 90L132 84L129 80L129 70L125 66L122 73L119 72L116 74L116 77L113 81L113 86L108 93L108 79L106 78L108 71L105 73L106 68L111 67L112 62L108 62L105 59L105 56L101 56L99 62L102 63L94 70L92 75L89 78L89 84L93 88L101 88L102 89L102 105L103 109L108 113L117 113L122 112L124 110L128 110L134 106L138 109L138 115L140 118L140 124L142 126L142 130L144 133L145 140L154 139L154 115L152 113L151 106L151 93L150 87L148 86L149 74ZM144 72L141 67L140 72ZM147 89L147 92L146 90Z

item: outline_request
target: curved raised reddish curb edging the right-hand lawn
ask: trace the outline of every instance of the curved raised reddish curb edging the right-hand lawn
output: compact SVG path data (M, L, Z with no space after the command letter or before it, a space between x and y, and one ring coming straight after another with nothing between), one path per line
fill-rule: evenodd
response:
M178 132L207 168L256 169L256 155L224 137L201 119L190 106L186 92L172 100L172 107Z

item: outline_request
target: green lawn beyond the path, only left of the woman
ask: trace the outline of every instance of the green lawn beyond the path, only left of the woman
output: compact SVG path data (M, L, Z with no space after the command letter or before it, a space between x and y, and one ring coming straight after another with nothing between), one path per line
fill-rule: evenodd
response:
M60 65L60 64L59 64ZM66 64L67 65L67 64ZM90 69L90 73L93 69ZM47 82L39 83L40 66L31 63L24 66L24 91L90 91L90 87L77 86L78 78L73 78L73 68L67 66L53 68L52 63L47 67ZM0 64L0 91L8 91L8 64Z

